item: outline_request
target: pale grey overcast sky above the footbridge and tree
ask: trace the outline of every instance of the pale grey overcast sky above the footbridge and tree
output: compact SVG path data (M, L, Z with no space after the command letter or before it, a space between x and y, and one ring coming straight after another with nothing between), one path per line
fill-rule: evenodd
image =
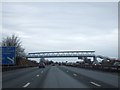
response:
M2 35L26 52L95 50L118 57L118 3L3 3Z

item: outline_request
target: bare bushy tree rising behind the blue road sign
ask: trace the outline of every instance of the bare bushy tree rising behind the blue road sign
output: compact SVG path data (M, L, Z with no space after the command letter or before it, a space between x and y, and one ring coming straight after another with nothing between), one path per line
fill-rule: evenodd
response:
M25 56L25 49L22 47L21 40L18 36L12 35L7 36L2 39L2 46L15 46L16 47L16 56L23 57Z

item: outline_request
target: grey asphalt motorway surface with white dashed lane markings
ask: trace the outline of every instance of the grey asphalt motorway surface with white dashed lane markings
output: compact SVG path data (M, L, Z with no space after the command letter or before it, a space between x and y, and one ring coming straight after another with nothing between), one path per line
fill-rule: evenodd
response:
M118 77L76 67L32 67L3 72L2 88L118 88Z

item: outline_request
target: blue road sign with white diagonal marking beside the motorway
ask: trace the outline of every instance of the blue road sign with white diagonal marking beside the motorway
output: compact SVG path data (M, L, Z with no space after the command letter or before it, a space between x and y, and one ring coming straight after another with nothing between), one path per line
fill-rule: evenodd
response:
M2 65L15 64L15 47L2 47Z

